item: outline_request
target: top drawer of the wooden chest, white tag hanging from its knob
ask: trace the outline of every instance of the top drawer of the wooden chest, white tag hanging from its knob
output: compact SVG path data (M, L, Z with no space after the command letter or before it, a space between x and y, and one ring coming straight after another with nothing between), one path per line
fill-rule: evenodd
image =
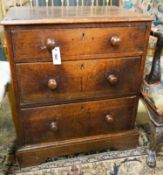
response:
M140 52L145 32L145 26L15 30L13 51L16 62L51 61L51 49L56 46L62 61L77 59L76 55Z

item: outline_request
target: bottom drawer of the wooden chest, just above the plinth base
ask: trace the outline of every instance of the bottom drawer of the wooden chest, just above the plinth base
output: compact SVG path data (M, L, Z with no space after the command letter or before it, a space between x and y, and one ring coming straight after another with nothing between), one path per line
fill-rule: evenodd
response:
M137 98L119 98L22 109L25 143L60 141L133 127Z

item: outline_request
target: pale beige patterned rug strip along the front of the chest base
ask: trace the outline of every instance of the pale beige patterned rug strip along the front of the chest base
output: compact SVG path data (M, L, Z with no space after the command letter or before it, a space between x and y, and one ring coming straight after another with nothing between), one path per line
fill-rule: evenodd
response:
M25 168L17 175L162 175L163 155L157 159L157 167L146 165L146 151L143 147L128 151L106 151L78 155L72 158Z

